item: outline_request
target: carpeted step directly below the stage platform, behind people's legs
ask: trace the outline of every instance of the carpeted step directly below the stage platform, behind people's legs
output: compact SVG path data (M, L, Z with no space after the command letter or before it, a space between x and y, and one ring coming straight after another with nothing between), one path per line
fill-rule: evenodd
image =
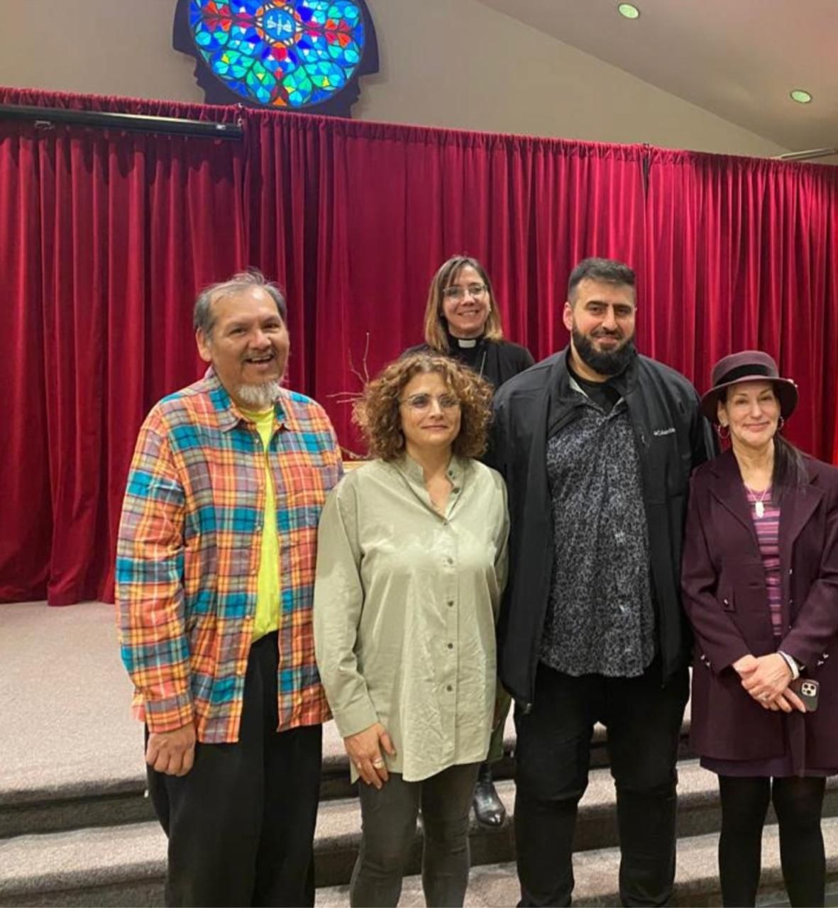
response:
M683 764L679 775L679 835L715 831L719 818L715 775L695 761ZM500 782L498 792L511 817L514 785ZM836 802L838 786L831 784L827 805L838 813ZM357 799L321 804L315 841L319 886L349 880L359 840ZM596 769L580 804L576 848L587 853L616 842L613 781L607 769ZM475 866L512 860L511 822L498 830L473 822L471 851ZM418 872L419 854L418 833L409 873ZM0 904L157 904L162 898L164 866L165 838L156 823L19 836L0 842ZM124 899L119 895L123 891Z

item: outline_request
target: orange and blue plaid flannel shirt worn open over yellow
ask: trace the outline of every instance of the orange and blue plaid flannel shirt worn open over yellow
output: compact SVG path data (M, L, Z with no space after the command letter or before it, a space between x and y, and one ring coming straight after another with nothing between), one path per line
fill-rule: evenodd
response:
M271 469L280 543L279 730L329 706L314 662L317 524L342 473L319 404L283 390ZM123 663L151 731L194 721L198 740L238 740L265 506L264 451L212 369L161 400L140 429L116 556Z

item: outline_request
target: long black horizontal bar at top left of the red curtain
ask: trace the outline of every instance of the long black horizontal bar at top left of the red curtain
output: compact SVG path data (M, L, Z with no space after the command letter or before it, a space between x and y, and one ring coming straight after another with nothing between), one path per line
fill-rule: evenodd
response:
M175 133L215 139L241 139L244 135L241 123L210 123L204 120L180 120L173 116L109 114L101 111L26 107L18 104L0 104L0 120L35 121L35 125L44 127L52 126L54 123L71 123L75 126L97 126L100 129L126 129L136 133Z

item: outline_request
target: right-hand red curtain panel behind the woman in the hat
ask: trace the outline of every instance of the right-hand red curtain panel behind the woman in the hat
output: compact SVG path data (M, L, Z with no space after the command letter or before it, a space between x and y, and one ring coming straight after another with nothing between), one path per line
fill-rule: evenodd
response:
M838 460L836 215L834 167L650 152L641 349L700 389L725 354L766 350L799 385L786 436L827 460Z

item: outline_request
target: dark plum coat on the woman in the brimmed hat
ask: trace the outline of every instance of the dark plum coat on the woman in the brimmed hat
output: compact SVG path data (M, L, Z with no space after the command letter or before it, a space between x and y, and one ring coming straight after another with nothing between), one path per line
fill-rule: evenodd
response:
M695 470L682 587L695 632L691 744L696 754L756 760L784 754L784 726L806 766L838 766L838 469L804 457L809 481L783 498L783 637L774 638L763 561L731 451ZM820 682L818 709L764 709L731 667L782 649Z

